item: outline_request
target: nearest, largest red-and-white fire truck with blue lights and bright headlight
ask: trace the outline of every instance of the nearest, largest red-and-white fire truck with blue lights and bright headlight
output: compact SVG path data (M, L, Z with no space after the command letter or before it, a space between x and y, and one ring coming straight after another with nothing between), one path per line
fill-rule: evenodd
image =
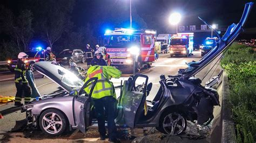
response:
M111 65L133 66L140 69L143 65L151 67L154 61L154 41L156 31L115 28L104 34L104 47L110 54ZM134 62L135 60L135 62Z

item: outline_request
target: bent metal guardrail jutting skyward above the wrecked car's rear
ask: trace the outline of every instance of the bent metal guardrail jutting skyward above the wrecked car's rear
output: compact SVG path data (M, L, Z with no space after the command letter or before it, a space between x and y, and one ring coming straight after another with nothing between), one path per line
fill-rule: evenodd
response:
M244 13L242 13L242 17L240 19L240 22L238 24L231 24L228 26L226 33L221 37L219 33L212 29L215 34L218 36L217 46L215 46L206 56L204 56L201 60L198 62L192 61L188 63L188 68L186 69L180 69L178 71L179 75L184 78L190 78L194 75L196 75L201 69L206 67L209 63L211 63L215 58L217 58L222 52L224 52L235 40L235 38L238 37L239 33L242 31L242 27L244 26L249 13L252 9L253 3L246 3ZM199 19L201 19L199 17ZM206 25L208 25L203 19L201 19ZM210 25L208 25L210 28L212 28Z

